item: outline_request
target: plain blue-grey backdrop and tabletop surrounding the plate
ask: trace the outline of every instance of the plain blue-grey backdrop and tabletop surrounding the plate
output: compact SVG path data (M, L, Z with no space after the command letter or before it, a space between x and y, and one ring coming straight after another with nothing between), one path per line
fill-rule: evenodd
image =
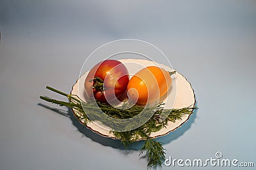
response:
M256 1L0 0L0 31L0 169L145 169L141 142L124 150L39 99L67 100L45 86L70 92L86 57L122 38L156 45L195 90L199 110L157 139L166 157L256 164Z

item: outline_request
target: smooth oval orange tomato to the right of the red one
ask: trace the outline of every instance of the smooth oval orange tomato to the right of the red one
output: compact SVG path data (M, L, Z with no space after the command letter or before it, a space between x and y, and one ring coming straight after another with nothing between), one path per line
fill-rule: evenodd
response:
M132 76L127 85L129 101L139 105L159 103L172 85L171 74L165 69L148 66Z

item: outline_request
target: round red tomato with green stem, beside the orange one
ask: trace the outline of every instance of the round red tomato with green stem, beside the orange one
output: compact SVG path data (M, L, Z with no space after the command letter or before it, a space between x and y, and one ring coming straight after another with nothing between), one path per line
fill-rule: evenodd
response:
M122 101L129 82L127 68L118 60L104 60L96 64L84 81L88 99L104 103Z

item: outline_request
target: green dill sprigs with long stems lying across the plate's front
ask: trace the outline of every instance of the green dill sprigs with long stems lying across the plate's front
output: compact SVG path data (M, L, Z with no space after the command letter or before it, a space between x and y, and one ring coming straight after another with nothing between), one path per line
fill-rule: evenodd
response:
M124 104L122 104L120 107L114 108L109 104L100 103L99 101L97 101L97 106L95 106L95 102L89 101L85 103L76 95L66 94L49 86L47 86L46 89L66 96L70 102L68 103L65 101L58 101L44 96L40 96L41 99L50 103L58 104L60 106L67 106L72 108L75 110L74 115L76 118L80 122L83 122L84 125L94 120L100 120L100 122L104 125L124 128L125 131L118 131L120 129L112 129L109 131L109 133L113 133L116 139L120 139L125 147L129 146L134 141L144 139L145 143L140 149L140 155L145 153L148 160L148 169L156 169L157 166L162 165L165 159L163 143L156 141L154 138L151 138L150 134L166 127L168 122L174 123L175 120L181 120L182 116L189 115L193 113L194 109L196 109L194 106L188 106L180 109L165 110L164 103L159 103L155 106L145 106L145 108L137 105L131 107L127 102L124 102ZM106 114L106 117L102 118L102 114L99 114L100 110ZM147 118L147 122L137 128L134 128L132 125L123 125L124 123L121 121L127 118L135 117L141 112L151 113L152 111L154 112L152 117L149 118L149 120L147 117L145 117ZM90 118L88 117L88 114L90 114ZM162 115L167 115L164 120L161 120ZM116 121L109 121L109 117L116 118ZM140 117L139 120L143 120L143 117Z

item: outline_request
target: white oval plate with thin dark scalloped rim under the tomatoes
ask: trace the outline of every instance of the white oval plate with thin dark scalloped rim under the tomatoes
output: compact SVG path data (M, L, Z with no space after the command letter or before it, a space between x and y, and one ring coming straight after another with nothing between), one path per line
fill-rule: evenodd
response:
M164 69L166 69L166 71L173 71L173 69L171 69L168 66L165 66L164 64L158 64L156 62L152 62L149 60L141 60L141 59L121 59L120 62L122 62L123 64L125 64L125 66L127 67L129 74L135 74L138 71L140 71L140 69L142 67L147 67L147 66L159 66L162 67ZM87 76L87 74L89 73L89 71L86 71L86 73L84 73L74 84L71 94L77 95L79 96L83 101L86 101L85 97L84 97L84 80ZM166 103L165 108L184 108L187 106L195 106L195 94L194 94L194 90L191 87L191 84L186 80L186 78L184 78L184 76L182 76L182 74L178 73L176 71L175 77L172 78L173 82L172 82L172 87L170 88L170 92L168 92L168 96L166 97L166 99L164 99L164 103ZM74 112L74 115L76 116L77 113L75 114L75 111L72 110ZM151 133L151 137L152 138L157 138L159 136L164 136L168 133L170 133L171 131L174 131L175 129L177 129L178 127L180 127L182 124L184 124L184 122L186 122L188 120L190 115L184 115L182 117L182 120L176 120L175 123L173 122L168 122L168 124L166 125L166 128L161 129L160 131L157 132L152 132ZM84 124L84 122L81 122L81 124ZM109 129L106 128L102 128L96 124L94 124L93 122L90 122L86 125L86 127L88 127L89 129L91 129L93 132L96 132L97 134L100 134L102 136L108 137L108 138L113 138L116 139L115 136L111 133L109 133Z

